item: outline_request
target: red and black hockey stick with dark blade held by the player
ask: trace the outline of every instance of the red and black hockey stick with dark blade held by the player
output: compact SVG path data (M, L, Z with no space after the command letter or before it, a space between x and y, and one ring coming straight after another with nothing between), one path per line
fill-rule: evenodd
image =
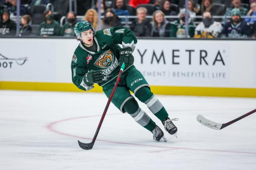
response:
M104 112L103 112L103 114L102 114L102 116L101 116L100 123L98 124L98 128L97 128L97 130L96 130L96 132L95 132L95 134L94 134L94 137L93 137L93 139L92 139L92 142L91 142L91 143L81 143L80 141L78 141L78 144L79 144L79 146L80 146L82 149L85 149L85 150L92 149L92 147L93 147L93 145L94 145L94 143L95 143L95 141L96 141L96 138L97 138L97 136L98 136L98 133L99 133L99 131L100 131L100 127L101 127L101 125L102 125L102 122L103 122L103 120L104 120L104 118L105 118L105 115L106 115L106 113L107 113L107 110L108 110L108 108L109 108L110 102L111 102L111 100L112 100L112 98L113 98L113 96L114 96L115 89L117 88L117 84L118 84L118 82L119 82L119 80L120 80L120 77L121 77L123 71L124 71L124 67L125 67L125 63L122 63L121 69L120 69L120 71L119 71L119 73L118 73L118 76L117 76L117 79L116 79L116 81L115 81L115 85L114 85L114 87L113 87L113 89L112 89L112 91L111 91L111 93L110 93L109 100L108 100L107 105L106 105L106 107L105 107L105 109L104 109Z

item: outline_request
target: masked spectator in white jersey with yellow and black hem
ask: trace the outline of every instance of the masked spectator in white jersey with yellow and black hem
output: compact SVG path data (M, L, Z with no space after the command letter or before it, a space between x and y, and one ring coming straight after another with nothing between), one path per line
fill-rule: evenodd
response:
M218 38L221 36L222 25L213 20L211 13L203 13L203 22L199 23L195 29L194 38Z

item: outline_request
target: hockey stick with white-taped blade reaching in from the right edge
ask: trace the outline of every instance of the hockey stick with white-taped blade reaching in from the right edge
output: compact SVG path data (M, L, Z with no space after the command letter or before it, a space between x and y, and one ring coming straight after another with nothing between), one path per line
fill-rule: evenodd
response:
M226 126L229 126L230 124L233 124L243 118L245 118L246 116L252 114L252 113L255 113L256 112L256 109L252 110L252 111L249 111L248 113L244 114L244 115L241 115L239 118L236 118L234 120L231 120L230 122L228 123L225 123L225 124L219 124L219 123L216 123L216 122L213 122L211 120L208 120L207 118L203 117L202 115L198 115L196 117L196 120L201 123L202 125L208 127L208 128L212 128L212 129L215 129L215 130L220 130L220 129L223 129L225 128Z

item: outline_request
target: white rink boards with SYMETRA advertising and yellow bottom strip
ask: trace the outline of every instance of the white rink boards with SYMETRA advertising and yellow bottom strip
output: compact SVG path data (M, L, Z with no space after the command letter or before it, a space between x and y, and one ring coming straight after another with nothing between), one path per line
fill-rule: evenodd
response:
M1 38L0 89L82 91L71 80L77 45L75 39ZM133 55L156 94L256 97L254 40L139 39Z

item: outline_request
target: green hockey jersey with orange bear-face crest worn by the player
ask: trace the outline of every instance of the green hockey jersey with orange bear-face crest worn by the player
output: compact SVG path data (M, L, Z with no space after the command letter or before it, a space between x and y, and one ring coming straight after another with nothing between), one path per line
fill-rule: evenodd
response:
M113 27L96 32L94 43L97 45L96 52L89 51L80 43L74 52L71 61L72 81L81 90L90 90L93 86L87 86L83 82L83 76L90 70L102 70L102 73L111 78L100 86L105 86L117 78L119 67L119 50L131 47L134 50L137 38L130 29L124 27ZM124 69L124 72L130 65Z

